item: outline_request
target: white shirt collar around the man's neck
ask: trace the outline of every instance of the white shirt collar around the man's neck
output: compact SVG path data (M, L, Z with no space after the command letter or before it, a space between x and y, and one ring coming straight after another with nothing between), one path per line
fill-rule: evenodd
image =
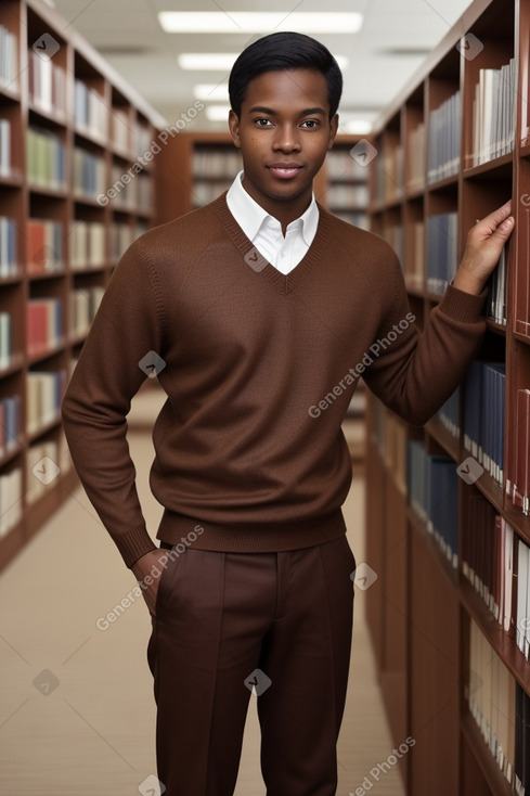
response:
M246 236L254 241L261 227L267 226L269 228L276 228L281 230L280 221L264 210L251 196L248 194L242 185L243 169L236 176L232 185L230 187L227 194L227 204L230 211L234 216L235 220L242 228ZM314 198L314 193L311 194L311 202L309 207L302 215L292 221L287 227L296 228L301 222L301 234L306 244L309 246L319 226L319 207Z

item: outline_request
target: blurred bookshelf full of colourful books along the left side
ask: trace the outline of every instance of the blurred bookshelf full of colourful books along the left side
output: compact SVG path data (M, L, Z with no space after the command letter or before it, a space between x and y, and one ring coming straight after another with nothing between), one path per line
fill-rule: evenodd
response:
M155 220L154 164L127 202L108 189L165 124L42 0L2 2L0 569L77 483L60 402L119 254Z

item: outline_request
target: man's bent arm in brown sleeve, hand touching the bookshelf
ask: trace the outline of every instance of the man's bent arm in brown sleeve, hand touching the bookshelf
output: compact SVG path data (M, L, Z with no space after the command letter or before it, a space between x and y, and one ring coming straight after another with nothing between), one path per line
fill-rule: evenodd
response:
M412 323L400 331L410 317L410 306L395 258L393 284L388 286L391 309L379 328L380 339L388 335L390 342L380 347L364 378L389 409L413 425L424 425L452 395L480 346L486 330L480 314L486 283L514 228L509 213L507 203L469 231L453 283L421 334Z

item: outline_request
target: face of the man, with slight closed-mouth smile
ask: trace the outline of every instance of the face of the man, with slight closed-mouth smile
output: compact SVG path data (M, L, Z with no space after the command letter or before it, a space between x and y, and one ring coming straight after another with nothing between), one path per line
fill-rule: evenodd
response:
M329 120L327 84L321 73L289 69L254 78L241 117L233 111L229 117L243 155L246 191L271 215L275 215L271 208L284 213L293 203L307 206L337 124L337 115Z

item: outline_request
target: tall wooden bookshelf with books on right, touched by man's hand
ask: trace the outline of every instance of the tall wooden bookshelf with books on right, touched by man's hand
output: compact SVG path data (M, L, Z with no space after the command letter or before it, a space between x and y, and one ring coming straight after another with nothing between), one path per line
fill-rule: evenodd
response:
M530 776L529 41L528 3L476 0L374 132L372 229L419 328L476 219L509 197L516 217L452 398L423 428L369 398L366 615L392 740L416 741L412 796Z

